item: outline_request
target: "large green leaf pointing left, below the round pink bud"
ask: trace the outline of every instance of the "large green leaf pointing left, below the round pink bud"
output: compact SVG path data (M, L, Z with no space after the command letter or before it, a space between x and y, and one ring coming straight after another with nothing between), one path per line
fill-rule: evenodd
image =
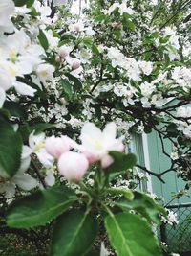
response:
M16 228L44 225L68 210L75 200L73 190L64 186L37 191L11 204L7 223Z

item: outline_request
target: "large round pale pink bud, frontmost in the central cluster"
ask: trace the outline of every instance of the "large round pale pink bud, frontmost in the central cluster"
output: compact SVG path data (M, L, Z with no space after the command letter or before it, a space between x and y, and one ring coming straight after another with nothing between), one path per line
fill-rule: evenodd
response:
M58 160L58 171L69 181L78 181L88 169L88 160L82 153L68 151L63 153Z

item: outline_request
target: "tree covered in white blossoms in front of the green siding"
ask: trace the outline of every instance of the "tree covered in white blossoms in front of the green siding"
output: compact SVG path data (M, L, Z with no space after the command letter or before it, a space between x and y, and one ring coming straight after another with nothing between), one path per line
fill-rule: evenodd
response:
M108 255L102 237L119 256L161 255L152 226L174 216L136 177L190 188L191 2L92 0L80 15L69 2L0 1L5 230L51 227L53 256ZM160 174L126 147L152 130L171 159Z

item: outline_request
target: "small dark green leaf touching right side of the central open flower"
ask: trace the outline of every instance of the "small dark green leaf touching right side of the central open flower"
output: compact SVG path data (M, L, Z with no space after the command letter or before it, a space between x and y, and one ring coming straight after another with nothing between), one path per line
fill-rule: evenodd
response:
M136 165L137 158L133 153L125 154L118 151L110 151L109 154L114 159L114 163L105 170L110 174L127 171Z

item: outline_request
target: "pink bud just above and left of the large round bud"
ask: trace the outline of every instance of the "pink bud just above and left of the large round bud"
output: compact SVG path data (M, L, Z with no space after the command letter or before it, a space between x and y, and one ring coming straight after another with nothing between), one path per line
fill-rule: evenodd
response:
M45 141L45 149L55 158L59 158L63 152L70 151L70 143L67 136L50 137Z

